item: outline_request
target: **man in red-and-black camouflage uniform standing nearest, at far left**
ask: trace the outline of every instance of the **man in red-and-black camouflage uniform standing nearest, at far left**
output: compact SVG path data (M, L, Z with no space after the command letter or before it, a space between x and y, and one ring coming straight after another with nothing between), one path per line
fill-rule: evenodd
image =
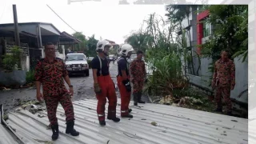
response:
M55 57L55 46L47 43L45 46L46 58L42 58L35 68L35 79L37 87L37 99L45 99L46 109L50 126L53 131L52 139L58 139L58 119L56 110L58 102L62 104L66 114L66 134L78 136L79 133L74 130L74 108L70 96L74 94L73 86L70 84L70 78L66 66L62 59ZM70 86L70 93L66 90L63 78ZM40 92L42 83L43 94Z

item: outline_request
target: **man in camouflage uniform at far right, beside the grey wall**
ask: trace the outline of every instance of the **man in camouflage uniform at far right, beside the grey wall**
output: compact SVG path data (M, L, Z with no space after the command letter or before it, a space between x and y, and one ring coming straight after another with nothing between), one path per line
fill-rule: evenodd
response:
M235 66L230 60L229 50L222 50L221 58L215 62L212 88L215 91L216 112L222 112L222 96L226 102L227 114L232 115L230 90L235 86Z

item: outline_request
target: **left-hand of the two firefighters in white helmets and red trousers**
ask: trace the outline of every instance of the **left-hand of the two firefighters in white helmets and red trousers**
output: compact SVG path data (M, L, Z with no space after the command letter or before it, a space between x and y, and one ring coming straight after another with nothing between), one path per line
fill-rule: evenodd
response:
M109 62L106 56L110 50L110 43L102 40L97 43L96 52L98 55L91 61L94 76L94 92L98 99L97 114L101 126L105 126L105 105L108 98L107 119L119 122L116 117L117 96L115 94L114 82L110 77Z

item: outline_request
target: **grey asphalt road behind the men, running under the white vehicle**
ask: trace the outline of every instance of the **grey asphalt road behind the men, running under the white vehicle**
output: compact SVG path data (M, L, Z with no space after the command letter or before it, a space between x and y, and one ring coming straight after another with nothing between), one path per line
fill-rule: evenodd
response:
M118 74L117 63L115 62L113 64L111 62L110 75L114 83L117 82L117 79L116 79L117 74ZM90 70L89 77L83 77L82 75L72 75L70 76L70 81L74 86L73 101L83 99L83 98L95 97L95 93L93 89L94 82L93 82L92 70ZM120 98L118 90L116 90L116 94L118 98ZM30 101L35 99L36 99L35 87L30 87L27 89L13 89L13 90L0 91L0 104L3 104L4 109L6 109L6 111L14 110L14 108L21 101ZM146 102L150 102L149 98L147 98L146 96L143 96L142 100Z

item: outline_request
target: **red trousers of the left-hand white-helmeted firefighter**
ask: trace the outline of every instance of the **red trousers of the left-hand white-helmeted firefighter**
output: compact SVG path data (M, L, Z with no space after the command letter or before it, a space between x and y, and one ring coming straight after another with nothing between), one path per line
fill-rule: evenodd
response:
M98 120L104 121L105 120L105 105L106 105L106 98L109 100L109 107L108 107L108 118L115 118L116 117L116 107L117 107L117 95L115 94L115 89L113 85L113 81L110 75L107 76L98 76L98 85L102 89L101 94L96 94L98 99L97 105L97 114Z

